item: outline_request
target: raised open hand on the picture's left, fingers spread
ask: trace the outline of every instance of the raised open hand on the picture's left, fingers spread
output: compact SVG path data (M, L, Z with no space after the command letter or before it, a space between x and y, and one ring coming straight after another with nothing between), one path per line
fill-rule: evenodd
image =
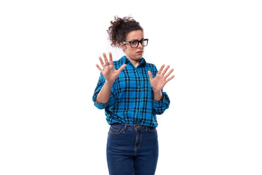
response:
M120 72L126 67L126 64L121 65L119 69L115 69L113 65L112 53L109 52L109 62L105 53L103 53L103 57L104 61L101 56L98 57L103 68L101 68L98 64L96 64L96 67L101 71L108 82L113 83Z

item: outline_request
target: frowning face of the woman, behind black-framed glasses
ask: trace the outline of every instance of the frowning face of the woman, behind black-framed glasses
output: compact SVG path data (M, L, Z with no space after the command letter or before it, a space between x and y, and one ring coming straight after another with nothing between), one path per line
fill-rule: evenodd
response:
M144 33L141 30L130 31L126 36L126 41L141 40L144 38ZM120 43L121 48L126 54L126 57L137 66L144 54L144 46L141 43L136 48L132 48L129 43Z

